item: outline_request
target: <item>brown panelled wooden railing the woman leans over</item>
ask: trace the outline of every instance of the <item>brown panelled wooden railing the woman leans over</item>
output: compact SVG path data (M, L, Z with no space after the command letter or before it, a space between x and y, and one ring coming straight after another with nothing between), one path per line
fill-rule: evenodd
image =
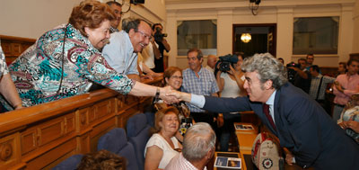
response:
M103 134L126 127L151 102L101 89L0 114L0 169L49 169L74 154L94 152Z

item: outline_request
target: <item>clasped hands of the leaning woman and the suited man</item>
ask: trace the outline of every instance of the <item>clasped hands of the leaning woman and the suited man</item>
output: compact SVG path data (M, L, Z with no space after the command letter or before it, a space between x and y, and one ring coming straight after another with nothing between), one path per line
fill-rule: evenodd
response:
M160 98L167 104L179 103L180 101L189 103L191 94L173 90L171 86L165 86L160 89Z

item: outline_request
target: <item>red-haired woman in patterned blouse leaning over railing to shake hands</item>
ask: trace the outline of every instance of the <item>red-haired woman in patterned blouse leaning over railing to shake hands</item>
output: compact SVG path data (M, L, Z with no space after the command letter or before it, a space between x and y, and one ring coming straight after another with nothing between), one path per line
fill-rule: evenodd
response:
M85 94L92 82L120 94L156 96L169 103L178 102L165 95L170 88L142 84L109 67L100 49L108 42L110 22L114 20L115 15L107 4L83 1L73 8L69 23L44 33L16 58L9 71L22 105L29 107Z

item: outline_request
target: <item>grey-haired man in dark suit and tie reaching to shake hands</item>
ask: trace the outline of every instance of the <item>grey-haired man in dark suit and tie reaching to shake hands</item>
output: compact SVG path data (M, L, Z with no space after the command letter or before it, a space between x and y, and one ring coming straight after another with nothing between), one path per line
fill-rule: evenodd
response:
M256 54L242 64L248 97L216 98L173 92L211 112L254 111L288 148L286 162L303 168L357 169L359 146L308 94L287 82L285 67L270 54Z

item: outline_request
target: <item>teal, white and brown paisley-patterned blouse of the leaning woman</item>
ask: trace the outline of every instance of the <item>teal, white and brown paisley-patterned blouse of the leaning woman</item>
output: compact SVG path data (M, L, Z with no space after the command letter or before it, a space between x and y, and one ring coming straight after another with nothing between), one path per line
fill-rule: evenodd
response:
M135 85L109 67L101 52L71 24L43 34L9 71L26 107L87 93L92 82L120 94Z

